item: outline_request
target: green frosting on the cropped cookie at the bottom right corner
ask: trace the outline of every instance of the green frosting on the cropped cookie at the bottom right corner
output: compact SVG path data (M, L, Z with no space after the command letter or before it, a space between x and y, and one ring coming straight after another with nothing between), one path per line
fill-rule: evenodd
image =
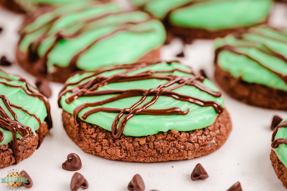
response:
M287 121L287 118L282 120ZM287 127L280 127L275 135L275 140L278 138L287 139ZM273 149L273 148L272 148ZM287 145L280 144L279 147L273 149L279 160L287 167Z

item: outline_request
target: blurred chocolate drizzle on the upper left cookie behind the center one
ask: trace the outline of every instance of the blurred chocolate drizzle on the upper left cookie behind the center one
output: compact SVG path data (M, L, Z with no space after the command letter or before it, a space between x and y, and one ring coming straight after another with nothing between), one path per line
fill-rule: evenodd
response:
M86 7L87 8L87 7ZM53 9L51 10L53 11ZM61 17L63 17L64 15L60 15L60 16L56 16L55 18L51 19L51 21L47 22L45 25L47 25L47 29L44 31L44 33L38 37L38 39L36 39L34 42L32 42L29 45L28 48L28 54L29 54L29 60L31 62L34 62L35 64L38 65L39 68L41 68L41 71L44 73L47 73L47 60L48 60L48 56L50 54L50 52L55 48L55 46L57 46L57 44L61 41L61 40L65 40L65 39L74 39L79 37L80 35L82 35L88 28L88 25L92 22L98 21L100 19L104 19L106 17L112 16L112 15L120 15L120 14L124 14L124 13L131 13L133 11L120 11L120 12L116 12L116 13L106 13L104 15L100 15L97 17L92 17L89 19L86 19L83 21L82 27L80 27L77 31L75 31L73 34L64 34L63 31L58 31L55 34L55 40L53 42L53 44L49 47L49 49L45 52L45 54L42 57L39 57L38 55L38 48L40 46L40 44L46 40L47 38L49 38L49 32L51 31L51 29L53 28L53 26L55 25L55 23L61 19ZM34 18L35 19L35 18ZM109 38L110 36L113 36L114 34L117 34L121 31L131 31L134 33L145 33L145 32L150 32L152 30L133 30L131 29L132 26L134 25L139 25L141 23L145 23L148 21L151 21L153 18L151 16L149 16L147 19L143 20L143 21L139 21L139 22L130 22L127 21L125 23L122 23L121 25L119 25L117 28L115 28L113 31L111 31L110 33L101 36L99 38L96 38L94 41L92 41L88 46L86 46L85 48L83 48L82 50L80 50L79 52L77 52L70 60L69 62L69 68L72 68L73 70L77 71L79 70L77 68L77 60L79 59L80 56L82 56L82 54L84 54L86 51L88 51L92 46L94 46L97 42L104 40L106 38ZM28 22L30 23L30 22ZM43 25L43 26L45 26ZM21 43L21 41L24 39L25 36L27 36L28 34L34 33L38 30L40 30L43 26L38 27L35 30L32 30L30 32L24 32L21 35L19 44Z

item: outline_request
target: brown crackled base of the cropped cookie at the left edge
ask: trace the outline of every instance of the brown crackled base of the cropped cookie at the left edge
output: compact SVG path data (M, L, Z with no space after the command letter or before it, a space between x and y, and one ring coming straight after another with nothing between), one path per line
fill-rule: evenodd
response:
M45 137L49 134L49 129L46 123L42 124L42 135ZM36 131L35 136L33 133L24 137L23 139L17 139L19 155L21 161L31 156L38 147L39 130ZM0 169L10 166L15 163L15 155L13 150L13 144L10 142L8 145L0 146Z

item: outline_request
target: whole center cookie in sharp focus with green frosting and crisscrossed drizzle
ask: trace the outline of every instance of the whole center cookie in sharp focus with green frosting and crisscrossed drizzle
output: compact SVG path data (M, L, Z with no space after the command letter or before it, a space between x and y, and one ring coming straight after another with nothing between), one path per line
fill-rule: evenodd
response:
M58 104L69 137L111 160L200 157L221 147L231 131L216 86L177 61L81 72L67 80Z

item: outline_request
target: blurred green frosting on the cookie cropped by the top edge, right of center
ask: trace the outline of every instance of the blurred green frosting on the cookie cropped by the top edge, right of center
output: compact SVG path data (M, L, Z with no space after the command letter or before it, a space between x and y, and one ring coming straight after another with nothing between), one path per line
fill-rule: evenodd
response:
M170 12L172 25L208 30L247 27L265 21L272 0L132 0L156 18ZM194 2L194 3L192 3ZM190 5L184 6L187 3Z

